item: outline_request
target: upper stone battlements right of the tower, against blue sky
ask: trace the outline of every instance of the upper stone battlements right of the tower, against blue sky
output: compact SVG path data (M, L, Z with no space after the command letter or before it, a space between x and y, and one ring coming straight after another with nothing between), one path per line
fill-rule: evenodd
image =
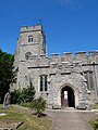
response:
M58 53L53 53L50 56L51 63L58 64L74 64L74 63L93 63L96 62L96 56L98 56L98 51L87 52L76 52L74 55L72 52L64 52L63 56L60 56Z

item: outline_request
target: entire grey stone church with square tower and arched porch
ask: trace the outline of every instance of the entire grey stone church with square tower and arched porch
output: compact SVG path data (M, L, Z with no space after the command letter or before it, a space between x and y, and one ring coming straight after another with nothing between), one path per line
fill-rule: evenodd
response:
M42 96L49 108L89 107L98 100L98 51L48 56L41 24L21 27L14 68L14 88L27 88L30 80L35 99Z

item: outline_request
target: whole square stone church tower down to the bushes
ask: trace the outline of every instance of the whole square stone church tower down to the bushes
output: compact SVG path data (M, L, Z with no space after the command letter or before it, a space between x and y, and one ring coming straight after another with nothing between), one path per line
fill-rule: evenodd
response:
M23 26L20 29L17 49L14 55L14 69L16 69L16 87L27 88L29 84L29 66L38 66L41 55L46 55L46 36L42 25Z

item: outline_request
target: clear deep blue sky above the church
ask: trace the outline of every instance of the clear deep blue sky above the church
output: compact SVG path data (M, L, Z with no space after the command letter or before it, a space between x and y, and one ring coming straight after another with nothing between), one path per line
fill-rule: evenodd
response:
M0 0L0 48L14 53L20 27L40 17L49 55L98 50L98 0Z

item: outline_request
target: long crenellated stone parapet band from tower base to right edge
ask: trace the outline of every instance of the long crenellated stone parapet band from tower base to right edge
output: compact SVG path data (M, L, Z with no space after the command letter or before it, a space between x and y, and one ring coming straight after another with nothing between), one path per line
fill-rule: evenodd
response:
M64 70L75 67L81 69L82 66L86 66L86 68L88 66L89 68L90 65L97 62L96 57L98 57L97 51L88 54L86 52L76 52L75 55L71 52L64 52L63 56L60 56L59 53L52 53L50 57L48 57L48 54L41 54L40 56L29 55L26 62L29 61L30 67L50 67L51 70Z

